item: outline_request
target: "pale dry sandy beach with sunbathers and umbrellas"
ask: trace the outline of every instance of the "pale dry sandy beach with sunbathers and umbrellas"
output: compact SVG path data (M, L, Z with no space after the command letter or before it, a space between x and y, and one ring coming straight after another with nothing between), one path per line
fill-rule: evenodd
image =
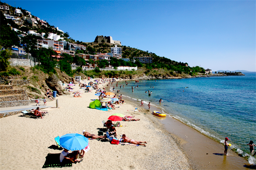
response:
M99 87L103 88L103 84ZM81 90L78 85L74 86L74 91L77 90ZM121 138L120 135L126 134L130 139L147 141L146 147L89 140L91 149L85 154L83 162L62 169L193 169L183 149L146 109L138 108L139 111L134 112L137 106L129 102L115 110L90 109L91 99L98 96L94 95L95 90L92 90L93 93L81 91L81 98L74 98L73 95L57 97L59 108L54 108L55 101L47 102L53 108L44 109L49 111L44 119L22 117L22 114L0 119L0 169L41 169L47 154L61 152L50 149L56 145L55 137L67 133L82 134L83 130L97 134L99 128L103 128L102 120L107 120L114 113L134 115L140 119L120 122L122 127L117 127L117 135Z

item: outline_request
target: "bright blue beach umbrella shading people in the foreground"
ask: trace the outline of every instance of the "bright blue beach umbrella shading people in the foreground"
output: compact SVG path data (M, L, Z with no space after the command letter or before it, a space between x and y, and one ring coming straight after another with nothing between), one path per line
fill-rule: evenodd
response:
M88 139L78 133L68 133L60 137L60 146L70 151L84 149L88 144Z

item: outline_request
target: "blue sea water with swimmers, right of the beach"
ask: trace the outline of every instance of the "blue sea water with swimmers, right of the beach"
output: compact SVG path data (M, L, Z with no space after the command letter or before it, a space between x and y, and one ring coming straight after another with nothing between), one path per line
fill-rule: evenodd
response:
M246 157L250 164L256 164L246 145L250 140L256 143L256 73L127 82L127 86L125 82L119 82L118 87L113 84L115 93L120 90L119 95L133 98L138 103L143 100L145 108L151 102L165 114L220 143L228 137L233 151ZM120 84L125 87L120 88ZM152 91L151 96L146 91ZM160 98L163 100L161 104Z

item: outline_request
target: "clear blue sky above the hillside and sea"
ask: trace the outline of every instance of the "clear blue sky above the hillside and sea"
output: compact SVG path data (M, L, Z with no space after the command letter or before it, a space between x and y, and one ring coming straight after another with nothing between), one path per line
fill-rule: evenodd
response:
M255 0L1 0L70 37L122 45L212 71L256 72Z

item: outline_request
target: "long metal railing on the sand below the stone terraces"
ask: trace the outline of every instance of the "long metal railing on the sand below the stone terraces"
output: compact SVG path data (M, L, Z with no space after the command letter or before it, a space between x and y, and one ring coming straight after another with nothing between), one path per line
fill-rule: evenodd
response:
M44 105L44 99L2 101L0 102L0 113L31 110L36 109L36 107L46 108L52 106Z

